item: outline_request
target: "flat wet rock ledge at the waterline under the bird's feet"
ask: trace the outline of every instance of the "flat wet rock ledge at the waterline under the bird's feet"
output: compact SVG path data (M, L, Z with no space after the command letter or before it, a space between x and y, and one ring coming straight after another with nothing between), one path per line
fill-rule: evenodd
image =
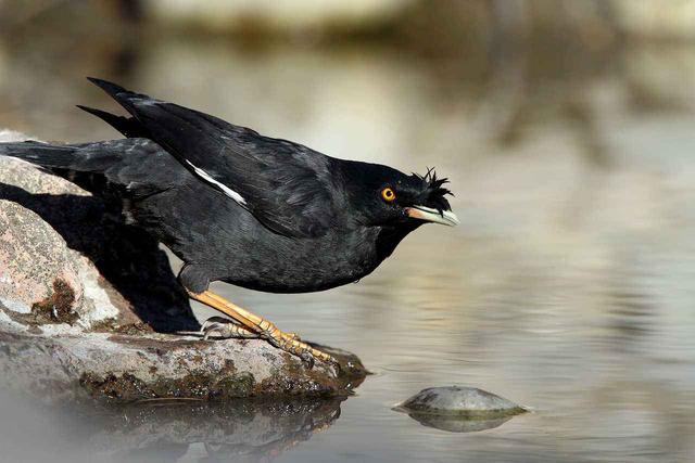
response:
M0 312L0 387L47 403L90 398L131 402L161 398L228 400L257 396L349 394L364 377L359 360L323 347L345 365L340 374L302 361L267 342L203 340L174 334L89 333L47 325L37 334Z

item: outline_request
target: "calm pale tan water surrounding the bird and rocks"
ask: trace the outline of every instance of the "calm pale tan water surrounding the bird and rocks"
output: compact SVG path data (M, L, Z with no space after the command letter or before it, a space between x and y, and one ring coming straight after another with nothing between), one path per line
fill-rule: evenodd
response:
M463 223L421 228L372 275L326 293L215 287L357 353L374 375L342 403L91 412L3 391L0 461L695 459L695 49L628 47L599 68L510 60L478 78L384 50L147 43L125 85L338 157L435 166ZM72 110L111 107L81 76L113 69L2 59L2 125L115 137ZM462 434L391 410L452 384L532 412Z

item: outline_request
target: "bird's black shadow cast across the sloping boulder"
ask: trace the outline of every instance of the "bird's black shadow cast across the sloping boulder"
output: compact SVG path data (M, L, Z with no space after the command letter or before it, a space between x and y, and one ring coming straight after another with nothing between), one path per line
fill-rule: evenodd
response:
M128 308L155 332L200 329L188 296L156 240L144 230L125 224L102 200L33 194L7 183L0 183L0 200L14 202L40 216L71 249L93 262L101 276L125 298Z

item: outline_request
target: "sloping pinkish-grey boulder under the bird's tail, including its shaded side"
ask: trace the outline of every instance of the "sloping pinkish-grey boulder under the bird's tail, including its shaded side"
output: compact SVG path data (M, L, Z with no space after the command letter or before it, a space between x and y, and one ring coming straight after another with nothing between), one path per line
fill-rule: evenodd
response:
M71 313L70 324L87 331L199 327L150 235L111 220L103 203L74 183L0 157L0 304L10 316L31 314L35 304L59 293L73 294L61 308ZM34 318L21 319L41 322Z

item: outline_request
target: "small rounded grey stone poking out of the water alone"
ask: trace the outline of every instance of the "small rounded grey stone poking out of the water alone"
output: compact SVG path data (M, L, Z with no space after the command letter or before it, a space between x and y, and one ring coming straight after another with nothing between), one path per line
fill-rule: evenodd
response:
M395 407L426 426L456 433L497 427L527 410L476 387L429 387Z

